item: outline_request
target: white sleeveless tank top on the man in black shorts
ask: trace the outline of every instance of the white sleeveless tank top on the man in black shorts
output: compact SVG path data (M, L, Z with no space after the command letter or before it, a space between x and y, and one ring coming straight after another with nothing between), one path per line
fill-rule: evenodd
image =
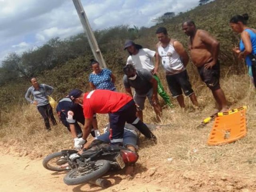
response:
M185 70L180 55L171 44L168 44L166 48L163 48L161 45L158 46L158 53L162 58L162 65L164 66L166 75L178 74Z

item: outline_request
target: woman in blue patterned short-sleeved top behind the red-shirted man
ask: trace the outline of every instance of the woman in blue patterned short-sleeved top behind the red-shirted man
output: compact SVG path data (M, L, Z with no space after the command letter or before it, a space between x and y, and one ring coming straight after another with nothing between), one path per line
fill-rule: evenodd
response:
M89 76L91 88L93 90L107 89L111 91L116 91L116 77L112 74L112 71L107 68L100 68L100 64L96 60L91 60L91 66L93 70L93 72Z

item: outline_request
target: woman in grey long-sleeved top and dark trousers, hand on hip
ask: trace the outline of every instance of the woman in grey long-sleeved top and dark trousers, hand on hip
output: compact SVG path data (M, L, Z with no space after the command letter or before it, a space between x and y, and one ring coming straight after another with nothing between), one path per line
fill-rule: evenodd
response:
M53 125L57 125L52 112L52 106L50 106L47 97L48 95L52 94L54 88L46 84L39 84L35 77L32 77L30 82L32 86L28 88L25 98L28 100L28 102L37 106L38 111L44 118L46 130L50 131L51 128L49 118ZM33 99L30 98L31 95L33 96Z

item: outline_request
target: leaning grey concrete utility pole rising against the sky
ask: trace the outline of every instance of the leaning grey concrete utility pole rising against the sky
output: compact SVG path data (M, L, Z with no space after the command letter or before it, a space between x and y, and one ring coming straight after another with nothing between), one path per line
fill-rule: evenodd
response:
M100 48L98 46L96 38L92 32L92 28L90 27L89 21L86 17L86 14L85 14L85 11L84 11L81 1L73 0L73 3L76 8L77 14L80 18L80 21L82 23L82 26L84 28L84 31L86 33L88 42L90 44L90 48L92 49L92 53L93 53L95 59L99 62L100 66L102 68L107 68L105 60L100 52Z

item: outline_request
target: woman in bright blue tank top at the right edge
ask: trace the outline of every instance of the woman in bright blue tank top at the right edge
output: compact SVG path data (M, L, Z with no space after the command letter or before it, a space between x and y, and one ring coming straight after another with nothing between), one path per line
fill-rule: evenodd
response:
M233 48L233 51L239 59L245 58L249 76L253 78L256 87L256 63L252 61L256 59L256 30L246 26L248 18L248 14L235 15L230 19L230 27L241 36L239 48Z

